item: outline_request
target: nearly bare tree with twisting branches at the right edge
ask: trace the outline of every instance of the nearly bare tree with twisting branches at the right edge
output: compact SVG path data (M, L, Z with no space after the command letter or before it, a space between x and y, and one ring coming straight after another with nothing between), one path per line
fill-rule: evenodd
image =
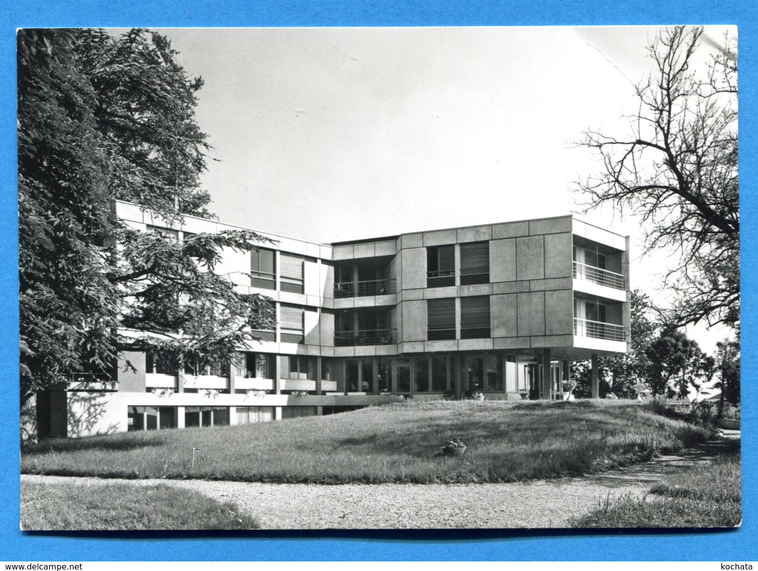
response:
M702 28L675 27L648 46L653 73L636 88L631 136L587 131L600 173L577 183L587 210L611 204L638 217L646 252L678 254L665 283L677 299L672 327L739 326L737 53L726 47L697 66ZM702 67L702 66L701 66Z

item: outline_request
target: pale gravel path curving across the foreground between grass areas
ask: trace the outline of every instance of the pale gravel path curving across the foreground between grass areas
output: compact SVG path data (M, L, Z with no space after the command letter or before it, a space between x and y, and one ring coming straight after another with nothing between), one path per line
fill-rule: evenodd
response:
M208 480L121 480L189 488L248 510L262 529L556 528L606 498L644 495L662 476L708 462L718 448L739 445L739 432L676 456L583 478L514 484L262 484ZM716 447L716 448L714 448ZM21 476L30 482L119 480Z

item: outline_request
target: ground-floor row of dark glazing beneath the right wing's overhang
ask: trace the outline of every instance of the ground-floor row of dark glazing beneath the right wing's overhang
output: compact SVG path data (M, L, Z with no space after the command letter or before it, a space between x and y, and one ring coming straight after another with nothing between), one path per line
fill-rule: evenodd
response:
M374 367L375 365L375 367ZM517 373L516 356L503 354L471 354L461 359L464 391L503 392L505 380L509 391L527 390L528 376L524 369ZM345 360L347 392L426 393L453 389L455 364L446 355ZM518 379L518 380L517 380ZM518 387L518 388L517 388Z

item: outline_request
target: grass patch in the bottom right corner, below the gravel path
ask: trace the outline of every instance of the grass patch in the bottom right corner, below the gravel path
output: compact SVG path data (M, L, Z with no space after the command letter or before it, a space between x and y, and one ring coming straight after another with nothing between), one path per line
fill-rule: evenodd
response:
M572 522L574 527L733 527L741 520L740 454L670 476L646 498L625 497Z

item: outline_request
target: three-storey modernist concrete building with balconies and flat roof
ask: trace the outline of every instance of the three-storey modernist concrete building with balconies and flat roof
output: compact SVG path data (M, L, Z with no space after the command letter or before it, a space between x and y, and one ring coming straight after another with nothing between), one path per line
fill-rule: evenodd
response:
M161 226L116 207L136 228ZM185 217L172 231L233 228ZM115 388L84 377L40 395L40 435L280 420L399 395L562 398L572 361L597 370L628 348L628 237L572 216L330 245L267 236L218 268L277 308L277 329L240 347L239 365L170 370L127 354Z

